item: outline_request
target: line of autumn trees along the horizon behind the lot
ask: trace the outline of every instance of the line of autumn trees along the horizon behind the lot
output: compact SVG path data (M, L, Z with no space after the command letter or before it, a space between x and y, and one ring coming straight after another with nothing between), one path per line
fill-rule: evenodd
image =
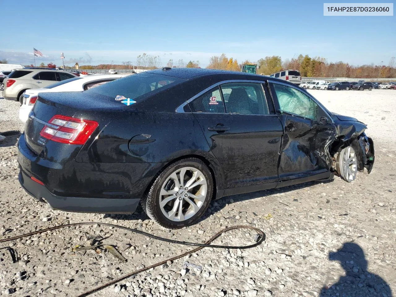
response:
M6 59L1 62L7 63ZM258 61L246 60L242 64L253 63L259 66L258 73L264 75L270 75L283 69L297 69L300 71L301 76L305 77L351 77L351 78L395 78L396 77L396 61L395 57L391 57L388 65L381 62L381 65L362 65L354 66L342 61L339 62L328 62L323 57L309 57L308 55L299 55L292 59L285 59L282 61L280 56L267 56L261 58ZM149 55L143 53L138 55L136 62L132 64L131 61L124 61L121 64L114 64L112 61L110 64L100 65L80 65L80 69L157 69L162 67L164 64L161 61L160 56ZM33 65L29 65L33 66ZM201 68L200 61L188 61L187 63L183 59L169 61L165 65L166 67L188 67L188 68ZM40 64L40 67L55 68L54 63ZM66 68L72 68L66 66ZM228 58L224 53L219 56L212 56L209 59L209 64L206 68L209 69L222 69L230 71L240 71L241 65L237 59L232 57Z

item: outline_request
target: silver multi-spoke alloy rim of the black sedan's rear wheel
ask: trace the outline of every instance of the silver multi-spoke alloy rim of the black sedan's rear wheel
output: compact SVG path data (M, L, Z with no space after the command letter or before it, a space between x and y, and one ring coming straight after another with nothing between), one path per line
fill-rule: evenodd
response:
M168 176L160 192L160 209L171 221L185 221L194 216L207 199L208 182L193 167L177 169Z

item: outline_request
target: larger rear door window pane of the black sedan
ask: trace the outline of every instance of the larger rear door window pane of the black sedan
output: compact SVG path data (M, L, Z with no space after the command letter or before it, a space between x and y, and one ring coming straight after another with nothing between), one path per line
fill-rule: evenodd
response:
M221 91L227 113L269 114L261 84L231 82L222 84Z

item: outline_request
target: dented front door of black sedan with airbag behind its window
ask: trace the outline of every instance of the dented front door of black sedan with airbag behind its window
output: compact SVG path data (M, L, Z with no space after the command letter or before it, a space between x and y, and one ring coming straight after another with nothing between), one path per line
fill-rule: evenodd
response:
M280 183L329 177L332 158L328 146L336 135L333 120L313 97L297 87L280 82L271 82L270 87L285 131L280 151Z

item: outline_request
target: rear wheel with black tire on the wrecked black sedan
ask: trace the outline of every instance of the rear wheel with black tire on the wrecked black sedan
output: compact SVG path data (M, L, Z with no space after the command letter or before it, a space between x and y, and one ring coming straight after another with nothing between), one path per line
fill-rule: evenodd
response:
M141 204L159 225L178 229L195 223L206 211L213 195L213 177L201 160L188 158L164 169Z

